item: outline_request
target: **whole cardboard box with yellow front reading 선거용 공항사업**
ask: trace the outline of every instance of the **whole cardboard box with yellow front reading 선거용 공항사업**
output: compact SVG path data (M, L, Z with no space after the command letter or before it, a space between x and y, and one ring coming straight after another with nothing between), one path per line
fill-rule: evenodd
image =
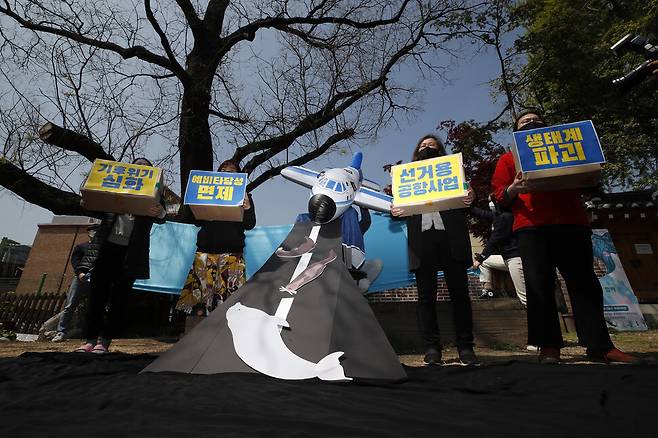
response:
M446 155L391 167L393 206L402 216L465 208L468 184L462 154Z

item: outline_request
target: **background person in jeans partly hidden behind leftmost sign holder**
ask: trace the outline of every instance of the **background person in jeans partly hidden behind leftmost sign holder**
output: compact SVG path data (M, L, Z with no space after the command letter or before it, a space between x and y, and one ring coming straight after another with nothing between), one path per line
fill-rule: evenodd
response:
M66 295L66 304L64 310L59 315L59 322L57 323L57 333L53 336L53 342L61 342L66 338L66 333L69 330L69 324L75 309L80 304L82 297L86 296L89 292L89 273L80 270L80 262L89 247L89 242L94 237L97 226L87 228L87 236L89 241L82 242L73 248L71 253L71 267L73 268L73 280L69 286L68 294Z

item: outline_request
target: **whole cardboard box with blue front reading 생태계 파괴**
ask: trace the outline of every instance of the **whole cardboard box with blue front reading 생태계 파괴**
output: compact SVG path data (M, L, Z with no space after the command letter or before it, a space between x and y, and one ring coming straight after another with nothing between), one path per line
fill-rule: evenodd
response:
M531 191L593 187L605 157L591 120L514 133L514 164Z

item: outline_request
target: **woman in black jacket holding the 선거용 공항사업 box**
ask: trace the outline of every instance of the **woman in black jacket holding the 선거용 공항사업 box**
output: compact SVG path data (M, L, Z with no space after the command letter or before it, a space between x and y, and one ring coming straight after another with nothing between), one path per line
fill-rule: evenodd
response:
M412 154L412 161L446 155L441 141L434 135L421 138ZM474 199L469 189L464 204ZM407 248L409 270L416 276L418 328L425 344L424 362L441 363L441 339L436 318L436 288L438 271L443 271L448 285L459 359L464 365L474 365L473 314L468 295L467 270L472 264L471 241L468 234L467 208L409 216L407 221ZM391 208L393 219L400 218L402 210Z

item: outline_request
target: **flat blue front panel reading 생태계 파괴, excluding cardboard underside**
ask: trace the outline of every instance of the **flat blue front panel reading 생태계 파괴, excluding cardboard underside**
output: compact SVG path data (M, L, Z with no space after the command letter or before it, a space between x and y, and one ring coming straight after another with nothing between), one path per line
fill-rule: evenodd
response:
M605 163L591 120L518 131L514 143L521 172Z

